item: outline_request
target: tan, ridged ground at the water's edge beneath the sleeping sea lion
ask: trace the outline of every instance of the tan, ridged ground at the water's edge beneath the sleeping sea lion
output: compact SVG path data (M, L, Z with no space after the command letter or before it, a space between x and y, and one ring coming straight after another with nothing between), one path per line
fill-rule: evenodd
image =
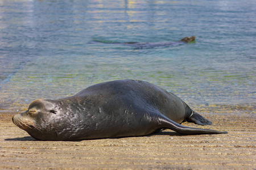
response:
M213 125L184 125L228 134L164 130L147 137L36 141L11 122L13 113L0 113L0 169L256 169L255 107L195 111Z

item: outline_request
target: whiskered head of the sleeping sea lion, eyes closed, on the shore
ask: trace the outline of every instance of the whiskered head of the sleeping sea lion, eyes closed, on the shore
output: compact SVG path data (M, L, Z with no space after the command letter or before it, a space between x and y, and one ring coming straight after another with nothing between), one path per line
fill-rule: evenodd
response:
M56 125L60 121L58 112L52 100L37 99L32 101L26 112L16 114L13 122L35 139L51 140L57 135Z

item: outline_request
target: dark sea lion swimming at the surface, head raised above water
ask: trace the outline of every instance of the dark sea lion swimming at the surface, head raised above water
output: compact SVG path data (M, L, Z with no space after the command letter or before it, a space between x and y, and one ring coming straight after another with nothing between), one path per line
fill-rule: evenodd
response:
M110 42L110 41L99 41L94 40L93 42L101 42L106 44L122 44L122 45L130 45L134 46L135 48L155 48L158 46L174 46L174 45L180 45L187 42L195 41L196 37L184 37L180 41L171 41L171 42Z

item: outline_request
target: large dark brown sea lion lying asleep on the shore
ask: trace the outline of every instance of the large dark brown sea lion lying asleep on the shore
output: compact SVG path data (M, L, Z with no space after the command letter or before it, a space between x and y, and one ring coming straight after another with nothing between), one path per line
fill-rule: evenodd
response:
M210 125L176 95L141 80L95 84L57 100L34 100L13 122L43 141L134 137L171 129L180 134L225 131L189 128L181 122Z

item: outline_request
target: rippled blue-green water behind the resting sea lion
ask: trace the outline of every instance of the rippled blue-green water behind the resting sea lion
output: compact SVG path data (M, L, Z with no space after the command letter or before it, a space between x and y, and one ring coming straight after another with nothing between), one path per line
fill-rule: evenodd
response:
M254 105L255 1L0 1L0 112L140 79L192 107ZM106 42L196 41L137 49Z

